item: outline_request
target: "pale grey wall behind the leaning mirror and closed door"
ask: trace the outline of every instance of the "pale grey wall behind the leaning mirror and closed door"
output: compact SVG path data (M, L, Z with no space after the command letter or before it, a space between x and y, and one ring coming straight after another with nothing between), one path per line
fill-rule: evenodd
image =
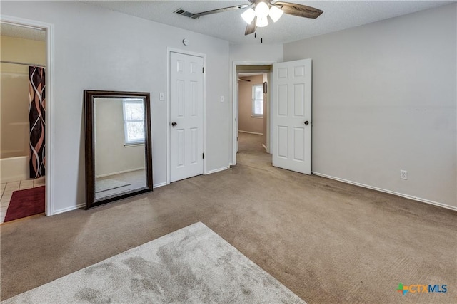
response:
M84 203L83 90L151 93L154 184L166 182L166 47L206 54L207 170L231 157L229 43L76 1L1 1L1 14L55 26L54 212ZM188 38L189 46L181 41Z

